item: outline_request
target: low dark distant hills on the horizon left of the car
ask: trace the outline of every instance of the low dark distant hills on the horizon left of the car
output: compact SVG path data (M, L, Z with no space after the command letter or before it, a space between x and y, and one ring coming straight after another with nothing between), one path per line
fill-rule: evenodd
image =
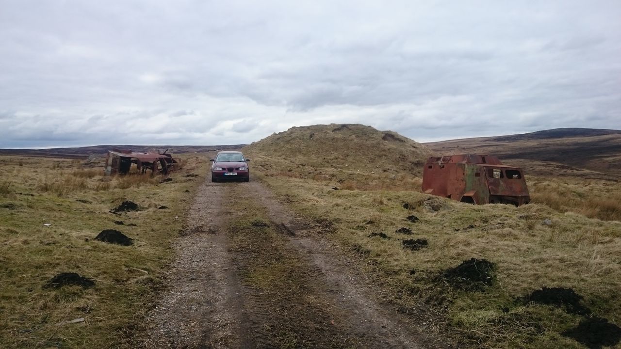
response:
M104 155L112 148L147 152L153 149L168 149L173 153L205 153L215 150L238 150L238 145L94 145L92 147L50 148L50 149L0 149L0 155L42 156L53 158L87 158L90 155Z

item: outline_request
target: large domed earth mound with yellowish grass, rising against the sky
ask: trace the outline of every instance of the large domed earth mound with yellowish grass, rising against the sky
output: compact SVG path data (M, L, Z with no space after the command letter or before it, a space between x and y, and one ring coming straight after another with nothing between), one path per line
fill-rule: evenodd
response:
M270 161L282 159L306 170L310 167L417 174L433 155L424 145L396 132L360 124L292 127L244 147L243 152L258 158L269 155ZM276 163L257 163L267 170L270 166L279 167Z

